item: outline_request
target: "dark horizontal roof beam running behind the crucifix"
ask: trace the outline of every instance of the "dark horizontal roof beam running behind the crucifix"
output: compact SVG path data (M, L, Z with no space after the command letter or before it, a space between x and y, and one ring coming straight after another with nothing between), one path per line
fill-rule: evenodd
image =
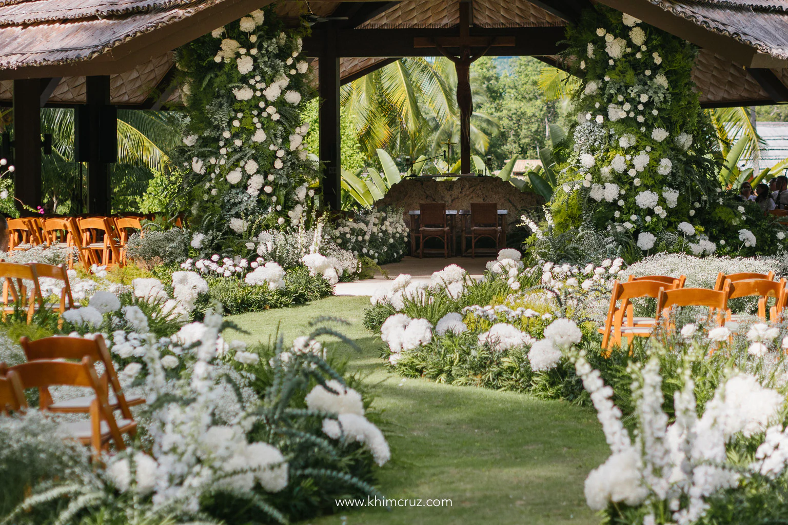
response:
M319 57L325 30L313 29L303 39L302 54ZM337 31L336 52L339 57L433 57L433 47L415 47L414 39L455 37L456 28L345 29ZM474 28L472 37L514 37L514 46L491 47L489 56L537 56L558 54L558 42L565 38L563 27ZM481 46L480 49L484 49ZM476 49L476 48L474 48Z

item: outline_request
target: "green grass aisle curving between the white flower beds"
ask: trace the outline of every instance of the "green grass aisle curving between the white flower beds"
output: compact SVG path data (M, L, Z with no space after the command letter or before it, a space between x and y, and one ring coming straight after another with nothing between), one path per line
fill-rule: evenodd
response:
M267 341L278 325L289 342L307 334L307 323L317 316L351 322L342 331L362 351L328 348L377 384L374 406L389 423L393 458L379 471L381 492L398 499L448 498L452 506L348 508L310 523L598 523L585 506L583 480L604 461L608 447L592 410L524 394L403 381L385 371L380 340L362 326L366 305L368 298L335 297L233 316L250 335L225 336Z

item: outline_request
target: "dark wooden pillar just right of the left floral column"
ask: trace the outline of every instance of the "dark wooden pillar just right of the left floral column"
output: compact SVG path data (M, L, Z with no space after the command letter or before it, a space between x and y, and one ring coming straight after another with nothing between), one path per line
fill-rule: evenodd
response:
M320 161L323 165L323 204L339 210L342 205L340 153L340 59L336 56L336 27L325 31L318 65Z

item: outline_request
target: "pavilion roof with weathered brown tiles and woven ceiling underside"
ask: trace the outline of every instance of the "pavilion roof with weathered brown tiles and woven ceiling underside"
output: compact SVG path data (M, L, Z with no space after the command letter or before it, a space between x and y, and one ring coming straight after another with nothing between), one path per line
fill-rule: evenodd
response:
M386 35L394 34L394 30L407 35L414 31L449 30L459 22L458 1L312 0L307 5L303 1L281 0L274 6L288 24L302 24L303 16L309 15L314 35L338 26L348 31L343 33L344 38L355 32L370 35L377 30L385 30ZM704 105L788 102L786 0L598 1L701 46L693 78ZM41 77L52 79L42 102L84 103L84 75L109 72L113 104L143 109L177 105L180 94L171 82L172 50L269 3L270 0L0 0L0 103L11 101L11 79ZM560 28L590 5L590 0L474 0L473 31L522 31L517 33L518 39L522 39L520 35L532 34L525 31L542 31L533 32L537 36L530 40L553 39L549 46L532 42L517 50L530 50L529 54L541 55L542 60L551 62L555 57L549 49L559 39L555 35L560 35ZM412 41L411 36L407 38ZM359 42L363 40L359 38ZM392 61L391 55L369 56L374 53L367 47L356 46L340 58L343 82ZM305 50L310 51L310 46L305 46ZM504 48L496 52L505 53ZM312 65L316 70L318 61Z

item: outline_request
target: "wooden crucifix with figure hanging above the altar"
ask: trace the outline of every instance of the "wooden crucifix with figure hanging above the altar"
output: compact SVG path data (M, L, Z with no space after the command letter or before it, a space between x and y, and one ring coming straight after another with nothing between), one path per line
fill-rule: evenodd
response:
M457 107L459 109L459 171L470 174L470 116L474 113L474 100L470 92L470 65L483 57L492 46L514 46L513 36L470 36L473 24L472 0L459 2L459 37L441 38L416 37L414 47L437 47L440 54L454 62L457 72ZM471 54L471 48L483 48L481 53ZM449 49L459 49L458 54Z

